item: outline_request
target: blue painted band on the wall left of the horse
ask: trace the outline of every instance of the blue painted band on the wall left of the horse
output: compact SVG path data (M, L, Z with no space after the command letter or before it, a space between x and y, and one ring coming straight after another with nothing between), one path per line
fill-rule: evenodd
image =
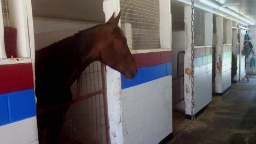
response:
M34 116L34 89L0 95L0 126Z

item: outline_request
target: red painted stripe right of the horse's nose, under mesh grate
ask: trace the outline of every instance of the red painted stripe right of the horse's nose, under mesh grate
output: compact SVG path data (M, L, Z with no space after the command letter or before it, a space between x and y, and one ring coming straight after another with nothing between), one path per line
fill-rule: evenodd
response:
M171 51L136 53L133 54L137 68L150 67L164 63L170 63L172 60Z

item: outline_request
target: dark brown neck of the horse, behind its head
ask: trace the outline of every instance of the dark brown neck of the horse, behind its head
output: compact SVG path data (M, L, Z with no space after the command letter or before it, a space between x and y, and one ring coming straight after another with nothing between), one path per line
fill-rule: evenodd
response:
M75 34L37 51L36 71L38 74L43 74L45 70L57 71L60 73L59 76L65 75L65 85L71 86L83 70L91 62L96 61L90 56L92 47L79 45L80 41L84 40L81 37L81 35ZM83 56L79 49L86 49L83 51ZM83 67L81 66L82 61L85 61Z

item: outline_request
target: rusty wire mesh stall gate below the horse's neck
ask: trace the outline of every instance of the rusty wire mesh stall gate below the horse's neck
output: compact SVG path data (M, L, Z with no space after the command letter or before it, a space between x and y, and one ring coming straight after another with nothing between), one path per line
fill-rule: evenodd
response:
M104 68L100 62L91 63L71 87L71 101L38 112L39 143L51 139L57 139L57 143L108 143ZM50 119L51 127L45 127L44 115L48 113L60 115L63 122ZM57 137L49 138L49 134Z

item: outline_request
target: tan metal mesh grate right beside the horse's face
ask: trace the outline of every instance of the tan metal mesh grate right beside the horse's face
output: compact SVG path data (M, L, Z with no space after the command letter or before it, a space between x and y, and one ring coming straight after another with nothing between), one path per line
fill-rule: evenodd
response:
M129 48L160 48L159 0L120 0L121 28Z

